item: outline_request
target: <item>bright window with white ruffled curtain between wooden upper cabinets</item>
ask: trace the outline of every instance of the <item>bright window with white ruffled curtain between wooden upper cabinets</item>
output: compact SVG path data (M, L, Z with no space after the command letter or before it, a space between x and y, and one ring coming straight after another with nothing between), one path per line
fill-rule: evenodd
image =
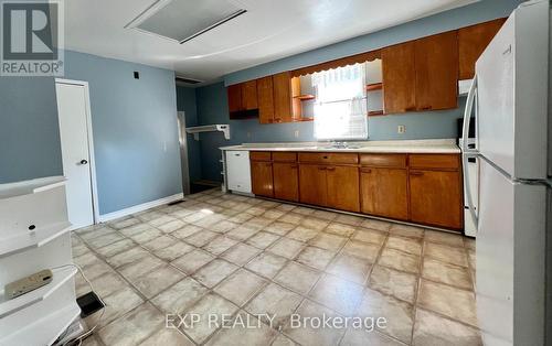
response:
M364 64L312 74L316 90L315 137L318 140L368 138Z

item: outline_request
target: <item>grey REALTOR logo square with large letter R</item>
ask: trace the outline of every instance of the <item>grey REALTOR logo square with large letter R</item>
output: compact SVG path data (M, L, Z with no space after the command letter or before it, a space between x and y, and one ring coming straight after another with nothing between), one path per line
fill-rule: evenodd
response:
M63 76L62 1L1 1L1 76Z

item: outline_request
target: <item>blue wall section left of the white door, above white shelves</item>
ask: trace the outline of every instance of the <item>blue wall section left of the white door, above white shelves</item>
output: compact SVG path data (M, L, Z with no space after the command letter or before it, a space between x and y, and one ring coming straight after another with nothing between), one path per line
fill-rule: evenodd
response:
M54 79L0 77L0 184L62 172Z

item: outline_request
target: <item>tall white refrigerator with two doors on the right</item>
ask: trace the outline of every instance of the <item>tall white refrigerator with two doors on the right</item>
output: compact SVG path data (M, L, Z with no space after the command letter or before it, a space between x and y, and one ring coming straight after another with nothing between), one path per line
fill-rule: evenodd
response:
M550 11L549 0L529 1L510 15L477 61L467 99L476 149L463 148L464 161L480 164L479 195L467 198L485 345L552 343Z

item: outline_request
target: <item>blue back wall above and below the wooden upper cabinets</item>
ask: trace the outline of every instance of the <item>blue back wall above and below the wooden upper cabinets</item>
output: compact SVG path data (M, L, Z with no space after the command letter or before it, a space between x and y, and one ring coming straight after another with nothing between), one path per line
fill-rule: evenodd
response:
M295 69L330 60L369 52L404 41L455 30L458 28L507 17L523 1L482 0L474 4L385 29L372 34L354 37L318 50L297 54L267 64L229 74L224 83L201 87L195 90L198 119L200 125L230 123L231 141L220 133L202 134L201 160L204 179L221 180L219 147L244 142L314 141L312 122L259 125L258 120L230 120L224 85L251 80L283 71ZM465 98L453 110L408 112L369 118L370 140L438 139L456 138L456 119L464 110ZM396 133L399 125L406 126L406 133ZM299 130L299 138L294 132Z

